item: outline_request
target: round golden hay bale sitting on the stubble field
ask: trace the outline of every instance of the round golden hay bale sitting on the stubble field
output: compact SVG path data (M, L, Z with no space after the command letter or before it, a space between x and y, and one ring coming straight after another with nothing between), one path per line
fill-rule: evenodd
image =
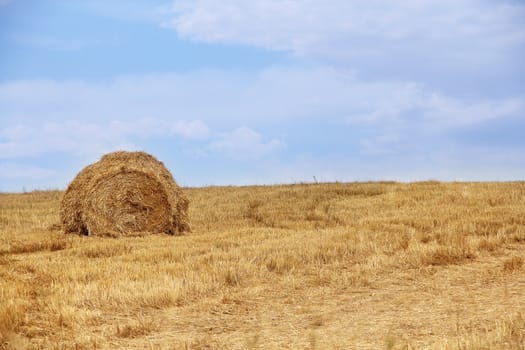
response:
M62 198L66 233L128 236L189 231L189 201L162 162L113 152L85 167Z

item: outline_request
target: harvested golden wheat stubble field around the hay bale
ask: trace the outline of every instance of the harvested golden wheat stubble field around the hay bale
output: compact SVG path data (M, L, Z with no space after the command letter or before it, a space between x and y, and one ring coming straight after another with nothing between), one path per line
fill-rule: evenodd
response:
M525 183L183 189L192 232L0 194L7 349L524 349Z

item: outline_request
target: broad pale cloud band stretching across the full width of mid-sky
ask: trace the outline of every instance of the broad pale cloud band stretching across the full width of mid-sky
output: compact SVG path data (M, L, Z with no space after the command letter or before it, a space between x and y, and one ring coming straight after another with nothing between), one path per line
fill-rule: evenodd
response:
M207 125L271 125L311 118L352 123L475 124L522 114L523 96L460 98L411 82L370 82L328 67L270 67L253 74L200 71L105 83L34 80L0 84L4 127L82 120L137 135L205 139ZM72 126L74 128L74 126ZM105 130L100 133L104 135Z

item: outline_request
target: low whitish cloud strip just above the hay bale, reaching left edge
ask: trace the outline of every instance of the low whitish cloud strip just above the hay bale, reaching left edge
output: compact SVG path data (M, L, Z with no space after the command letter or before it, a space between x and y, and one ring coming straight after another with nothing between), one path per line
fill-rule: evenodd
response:
M138 150L141 149L139 144L154 138L187 140L189 143L185 152L191 154L200 150L200 154L195 155L197 158L213 154L219 158L255 160L284 146L276 139L265 140L263 135L247 127L231 132L212 132L200 120L65 120L0 129L0 159L35 157L54 152L93 158L117 149Z

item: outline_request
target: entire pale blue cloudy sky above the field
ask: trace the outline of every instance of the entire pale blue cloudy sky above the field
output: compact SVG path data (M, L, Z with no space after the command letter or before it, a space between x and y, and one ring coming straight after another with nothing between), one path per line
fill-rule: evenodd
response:
M0 0L0 191L525 179L525 2Z

